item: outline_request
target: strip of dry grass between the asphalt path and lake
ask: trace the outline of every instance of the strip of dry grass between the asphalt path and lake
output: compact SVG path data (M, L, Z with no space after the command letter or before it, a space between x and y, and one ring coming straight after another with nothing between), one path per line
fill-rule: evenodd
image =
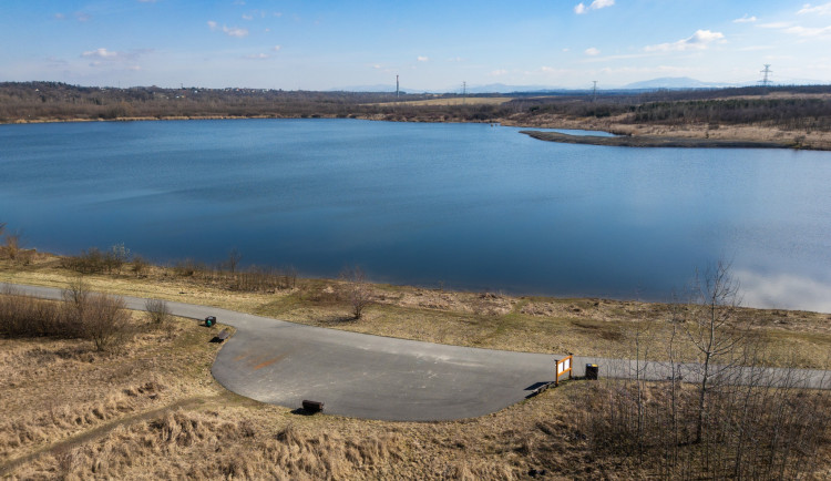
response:
M27 267L0 265L0 282L65 286L70 274L55 258ZM125 269L129 270L129 269ZM86 276L93 290L204 304L295 323L380 336L459 346L599 357L634 357L634 337L646 329L646 348L666 359L669 306L608 299L515 297L407 286L371 285L372 305L359 321L350 314L348 285L298 279L293 289L239 293L172 269L147 267L134 275ZM767 342L774 366L825 368L831 351L831 315L776 309L741 309L756 338ZM691 359L694 351L681 351Z

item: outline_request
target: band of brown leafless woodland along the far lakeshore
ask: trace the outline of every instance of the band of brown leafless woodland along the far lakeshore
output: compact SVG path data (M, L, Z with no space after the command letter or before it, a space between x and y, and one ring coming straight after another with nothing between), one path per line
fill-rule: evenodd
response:
M459 94L311 92L264 89L130 89L59 82L0 83L0 122L215 116L376 117L523 122L540 115L629 124L753 124L831 131L831 85L657 91L534 92L506 102L442 103ZM482 98L494 95L468 95ZM433 102L419 104L418 101ZM416 102L416 103L413 103Z

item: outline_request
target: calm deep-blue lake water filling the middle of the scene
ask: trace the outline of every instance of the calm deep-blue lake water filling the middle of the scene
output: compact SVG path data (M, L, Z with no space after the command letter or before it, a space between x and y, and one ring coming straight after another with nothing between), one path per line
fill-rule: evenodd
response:
M0 125L0 222L72 254L348 264L378 282L668 300L732 263L745 304L831 311L831 153L627 149L488 124Z

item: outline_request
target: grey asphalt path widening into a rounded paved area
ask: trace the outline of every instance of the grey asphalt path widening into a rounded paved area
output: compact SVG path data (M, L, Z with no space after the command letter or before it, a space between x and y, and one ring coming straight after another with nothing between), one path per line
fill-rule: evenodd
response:
M0 284L0 287L10 285ZM61 290L11 285L20 293L60 299ZM124 297L129 308L144 310L146 299ZM367 419L432 421L463 419L499 411L554 380L564 357L476 349L371 336L287 323L209 306L167 301L176 316L234 326L236 335L217 355L212 372L227 389L258 401L299 408L304 399L325 402L325 411ZM196 328L196 326L194 326ZM203 328L203 327L199 327ZM647 379L668 379L659 362L574 357L575 377L586 364L601 377L630 378L640 368ZM681 366L695 381L698 366ZM780 383L778 369L748 371L736 382ZM792 382L831 387L831 373L793 370Z

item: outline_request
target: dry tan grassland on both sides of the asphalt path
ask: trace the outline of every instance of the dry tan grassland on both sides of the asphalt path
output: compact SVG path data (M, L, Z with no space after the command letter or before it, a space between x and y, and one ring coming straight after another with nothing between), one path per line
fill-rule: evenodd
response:
M0 265L0 280L62 287L54 256ZM326 327L466 346L626 356L667 306L603 299L510 297L376 285L365 318L345 321L339 284L299 279L294 289L235 293L158 267L136 277L86 276L92 289L278 316ZM829 316L746 310L782 356L828 350ZM222 388L211 376L215 330L176 319L115 354L82 340L0 338L0 475L10 479L642 479L626 453L598 457L585 432L585 382L478 419L383 422L302 416ZM222 327L222 326L219 326ZM824 342L824 344L823 344ZM656 344L657 346L657 344ZM806 351L806 352L803 352ZM656 352L657 354L657 352ZM787 357L787 356L786 356ZM831 453L824 446L821 478ZM531 473L531 474L530 474Z

